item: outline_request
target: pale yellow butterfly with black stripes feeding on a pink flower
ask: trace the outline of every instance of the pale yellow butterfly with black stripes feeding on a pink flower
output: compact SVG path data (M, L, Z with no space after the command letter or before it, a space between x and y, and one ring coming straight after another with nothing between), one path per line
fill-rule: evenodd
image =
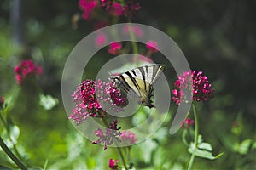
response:
M164 65L145 65L137 67L131 71L111 76L115 88L120 88L132 98L137 99L137 103L154 107L151 99L154 96L154 82L160 77L164 70Z

